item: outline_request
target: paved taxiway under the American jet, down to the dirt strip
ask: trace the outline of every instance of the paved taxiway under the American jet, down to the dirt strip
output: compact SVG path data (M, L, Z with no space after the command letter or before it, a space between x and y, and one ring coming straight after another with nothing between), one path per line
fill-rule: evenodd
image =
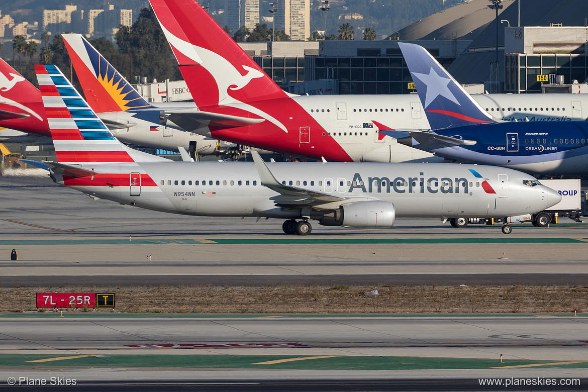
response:
M39 169L40 170L40 169ZM57 186L43 170L0 176L0 284L583 284L588 227L454 229L399 219L385 230L172 215ZM12 262L12 249L19 260ZM149 257L149 259L148 259Z

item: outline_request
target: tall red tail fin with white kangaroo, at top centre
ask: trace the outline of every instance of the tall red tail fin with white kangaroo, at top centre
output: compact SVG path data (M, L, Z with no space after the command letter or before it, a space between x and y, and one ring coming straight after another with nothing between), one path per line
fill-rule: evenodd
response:
M288 96L193 0L149 0L197 106Z

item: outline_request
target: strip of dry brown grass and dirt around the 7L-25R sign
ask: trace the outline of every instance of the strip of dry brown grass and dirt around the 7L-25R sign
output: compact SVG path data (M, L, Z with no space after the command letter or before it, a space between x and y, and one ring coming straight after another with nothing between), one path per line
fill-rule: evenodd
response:
M0 288L0 311L35 310L35 294L115 293L123 313L570 313L588 286L148 286ZM78 309L76 311L85 311ZM100 309L98 311L112 311Z

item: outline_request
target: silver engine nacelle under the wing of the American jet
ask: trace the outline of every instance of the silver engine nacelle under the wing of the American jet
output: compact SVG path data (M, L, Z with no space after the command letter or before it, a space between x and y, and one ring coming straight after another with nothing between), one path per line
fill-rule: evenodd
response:
M394 205L382 200L369 200L341 206L342 226L356 227L392 227L396 218Z

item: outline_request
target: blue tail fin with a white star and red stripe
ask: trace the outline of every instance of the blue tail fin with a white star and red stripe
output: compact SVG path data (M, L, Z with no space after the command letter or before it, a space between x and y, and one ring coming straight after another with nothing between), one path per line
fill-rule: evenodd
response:
M412 75L431 129L496 122L425 48L403 42L399 42L398 46Z

